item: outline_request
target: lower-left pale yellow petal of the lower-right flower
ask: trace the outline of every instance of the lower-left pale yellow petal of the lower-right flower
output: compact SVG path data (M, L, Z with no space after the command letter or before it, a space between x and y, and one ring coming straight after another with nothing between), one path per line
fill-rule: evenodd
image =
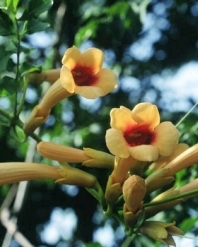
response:
M112 154L121 158L127 158L129 156L128 146L121 131L108 129L106 132L106 144Z

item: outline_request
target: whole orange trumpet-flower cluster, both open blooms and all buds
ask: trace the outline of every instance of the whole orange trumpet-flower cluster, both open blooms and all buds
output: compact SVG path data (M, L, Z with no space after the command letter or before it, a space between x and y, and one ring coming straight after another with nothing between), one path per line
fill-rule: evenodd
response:
M47 120L52 107L65 98L79 94L93 99L114 90L116 76L102 68L102 62L101 50L91 48L81 53L72 47L65 52L62 68L27 75L25 80L29 83L49 81L52 85L27 118L25 133L33 133ZM149 219L198 194L197 179L181 188L163 191L177 172L198 161L198 144L192 147L178 144L176 126L169 121L160 122L157 106L148 102L137 104L132 110L124 106L114 108L110 118L111 128L105 136L110 153L41 141L37 144L38 153L57 161L57 166L2 163L0 184L53 179L57 183L83 186L101 203L106 214L125 225L128 234L145 234L167 246L175 246L172 236L183 234L175 222ZM106 187L102 188L97 178L82 167L72 164L108 169ZM156 195L158 190L160 193Z

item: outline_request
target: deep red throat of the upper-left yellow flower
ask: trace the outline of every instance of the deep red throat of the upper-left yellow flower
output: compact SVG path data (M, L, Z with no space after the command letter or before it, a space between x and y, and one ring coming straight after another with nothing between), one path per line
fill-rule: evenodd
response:
M78 86L92 86L98 79L91 67L77 65L71 72Z

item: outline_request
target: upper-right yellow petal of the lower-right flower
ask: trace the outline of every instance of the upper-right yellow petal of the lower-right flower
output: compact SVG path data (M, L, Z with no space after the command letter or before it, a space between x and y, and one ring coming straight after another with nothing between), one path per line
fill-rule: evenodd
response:
M156 105L151 103L140 103L132 110L133 119L137 123L147 123L155 128L160 123L160 116Z

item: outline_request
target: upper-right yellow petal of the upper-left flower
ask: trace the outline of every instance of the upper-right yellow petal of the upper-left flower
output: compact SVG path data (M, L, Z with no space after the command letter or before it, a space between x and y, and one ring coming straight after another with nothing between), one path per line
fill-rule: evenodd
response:
M93 73L97 73L102 68L104 59L103 52L97 48L90 48L82 53L84 65L92 68Z

